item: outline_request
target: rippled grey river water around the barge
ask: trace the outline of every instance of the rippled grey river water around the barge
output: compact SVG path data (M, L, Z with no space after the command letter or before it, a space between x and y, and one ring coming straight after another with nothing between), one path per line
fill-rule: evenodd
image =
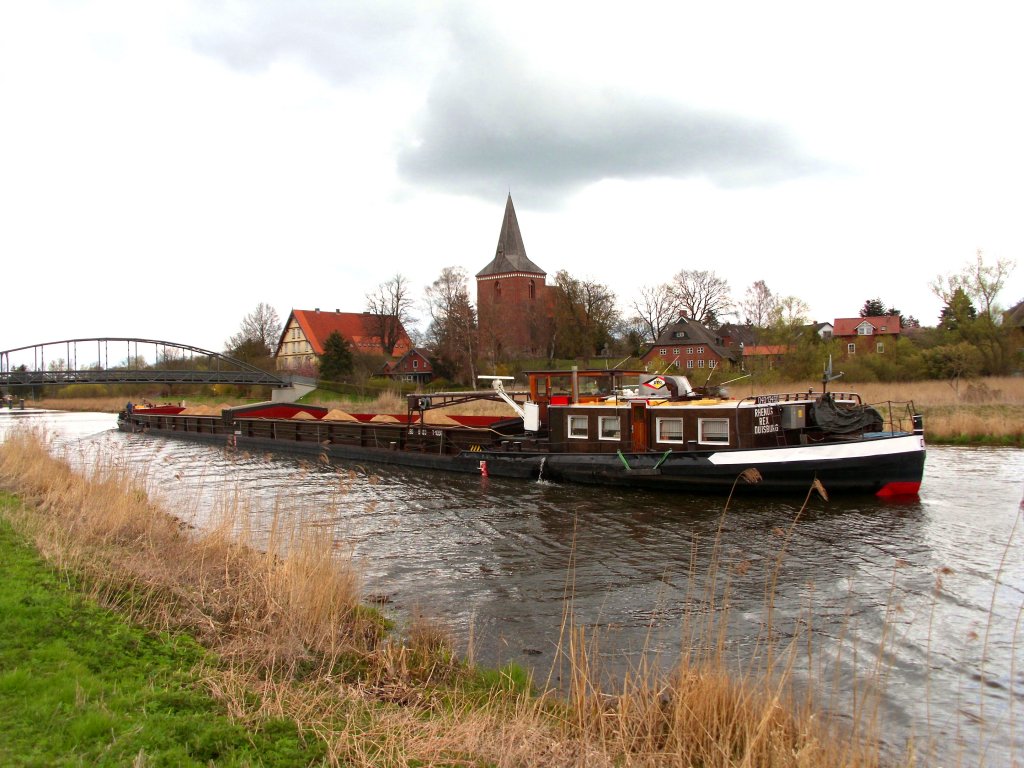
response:
M200 525L238 493L257 537L273 514L332 526L368 594L397 615L439 617L482 663L515 662L559 684L571 611L615 680L645 658L670 668L714 614L737 669L763 657L767 636L782 650L795 640L798 679L815 681L840 717L880 691L895 751L912 738L929 765L1024 761L1024 451L931 446L912 502L744 497L723 514L721 498L123 434L103 414L0 412L0 440L13 424L44 426L73 461L143 468Z

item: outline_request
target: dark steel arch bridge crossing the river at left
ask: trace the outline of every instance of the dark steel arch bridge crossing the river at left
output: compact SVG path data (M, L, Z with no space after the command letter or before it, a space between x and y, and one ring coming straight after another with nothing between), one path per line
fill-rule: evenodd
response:
M265 384L289 387L296 378L263 371L209 349L159 339L65 339L0 350L0 387L4 388L44 384ZM310 381L303 379L302 383Z

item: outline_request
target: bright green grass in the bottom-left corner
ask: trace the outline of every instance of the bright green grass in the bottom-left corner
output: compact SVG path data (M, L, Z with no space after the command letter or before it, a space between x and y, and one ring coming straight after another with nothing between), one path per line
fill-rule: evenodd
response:
M79 594L4 518L0 494L0 765L308 765L294 723L250 732L197 679L204 651Z

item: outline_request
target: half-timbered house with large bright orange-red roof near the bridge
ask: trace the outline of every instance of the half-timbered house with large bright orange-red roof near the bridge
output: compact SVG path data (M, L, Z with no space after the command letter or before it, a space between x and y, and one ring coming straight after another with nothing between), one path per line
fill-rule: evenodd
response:
M393 330L397 339L390 350L384 348L382 341L386 330ZM400 321L391 315L339 309L333 312L319 308L293 309L274 352L278 370L296 371L316 365L319 355L324 354L327 338L335 331L348 342L352 354L393 357L402 356L413 348Z

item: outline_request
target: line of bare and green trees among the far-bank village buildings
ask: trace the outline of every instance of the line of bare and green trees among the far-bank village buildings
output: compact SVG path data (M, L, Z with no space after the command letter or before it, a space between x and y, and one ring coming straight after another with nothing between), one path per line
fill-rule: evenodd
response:
M921 379L999 375L1019 368L1020 327L1004 324L997 303L1014 267L1009 260L988 260L979 250L959 271L936 276L929 285L943 307L934 327L922 327L918 318L879 297L866 299L860 316L898 316L905 333L886 354L851 361L859 370L848 374L860 380ZM368 293L365 309L380 325L382 353L393 349L404 328L417 346L429 350L435 376L451 382L471 383L481 365L489 369L512 364L479 338L469 286L464 268L446 266L419 297L402 274ZM776 294L763 280L734 300L728 282L714 271L683 269L666 283L641 288L625 309L606 284L565 270L554 275L549 289L551 316L539 332L543 355L550 361L639 355L680 316L712 330L735 324L746 330L755 344L784 348L777 371L781 377L813 376L820 372L824 355L842 352L810 332L806 302ZM422 326L414 314L417 310L422 311ZM278 312L260 303L225 342L225 351L249 362L272 366L281 332ZM353 371L372 372L369 364L359 365L359 355L338 334L327 340L319 368L321 377L329 380L340 380Z

